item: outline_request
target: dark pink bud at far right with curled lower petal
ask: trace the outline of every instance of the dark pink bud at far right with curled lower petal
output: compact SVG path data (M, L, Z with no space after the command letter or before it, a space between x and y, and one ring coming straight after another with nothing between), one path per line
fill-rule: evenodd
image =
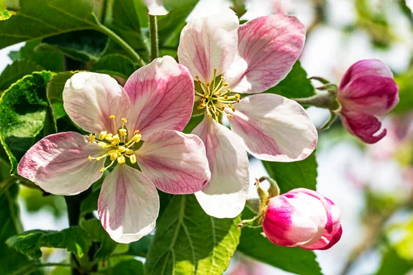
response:
M349 133L368 144L387 133L379 117L389 113L399 102L399 87L390 69L377 59L354 63L341 79L337 99L340 117Z

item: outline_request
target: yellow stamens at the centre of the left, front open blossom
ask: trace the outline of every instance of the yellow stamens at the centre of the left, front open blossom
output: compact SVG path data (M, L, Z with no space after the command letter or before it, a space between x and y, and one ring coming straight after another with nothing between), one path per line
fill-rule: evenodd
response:
M114 122L114 128L116 129L115 116L110 115L110 119ZM89 141L92 143L97 143L100 148L112 148L112 150L105 153L105 155L100 155L99 157L92 157L89 155L87 159L92 162L92 159L100 161L100 159L110 158L112 161L108 166L100 169L100 173L103 173L107 168L112 166L116 161L118 164L123 164L126 162L126 157L129 158L131 164L136 163L136 155L134 155L134 150L131 146L134 146L137 142L140 142L142 135L139 134L139 130L134 131L134 135L130 140L127 140L128 134L126 129L127 120L122 118L122 126L118 129L118 133L107 133L107 131L101 131L96 137L94 134L89 135Z

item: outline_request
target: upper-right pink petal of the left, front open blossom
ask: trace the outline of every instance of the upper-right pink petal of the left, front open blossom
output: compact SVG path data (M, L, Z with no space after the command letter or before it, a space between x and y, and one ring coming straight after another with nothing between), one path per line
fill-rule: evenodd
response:
M125 91L131 100L129 132L139 130L143 140L162 129L182 131L191 118L193 80L171 56L156 58L134 72Z

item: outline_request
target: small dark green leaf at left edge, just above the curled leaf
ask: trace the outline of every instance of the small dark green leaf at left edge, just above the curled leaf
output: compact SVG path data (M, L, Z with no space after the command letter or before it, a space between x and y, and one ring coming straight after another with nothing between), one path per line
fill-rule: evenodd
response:
M15 83L23 76L32 74L32 72L43 71L43 67L29 60L14 61L8 65L0 75L0 91L6 90L10 85Z

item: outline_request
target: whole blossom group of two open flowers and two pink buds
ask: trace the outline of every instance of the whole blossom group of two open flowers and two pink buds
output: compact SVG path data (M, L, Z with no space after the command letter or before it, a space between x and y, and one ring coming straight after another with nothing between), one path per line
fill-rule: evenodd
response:
M294 16L273 14L240 25L228 9L191 19L180 34L179 63L156 58L124 87L106 74L74 74L63 102L81 133L44 137L19 162L19 175L56 195L76 195L105 175L98 216L120 243L155 228L156 188L194 193L207 214L237 217L248 193L247 152L296 162L317 146L306 110L265 93L291 71L305 39L306 28ZM377 116L395 106L397 94L388 67L361 61L343 76L336 111L350 133L377 142L385 135L376 135ZM191 115L204 118L191 134L182 133ZM264 233L277 245L327 249L340 239L339 209L313 190L272 197L262 211Z

